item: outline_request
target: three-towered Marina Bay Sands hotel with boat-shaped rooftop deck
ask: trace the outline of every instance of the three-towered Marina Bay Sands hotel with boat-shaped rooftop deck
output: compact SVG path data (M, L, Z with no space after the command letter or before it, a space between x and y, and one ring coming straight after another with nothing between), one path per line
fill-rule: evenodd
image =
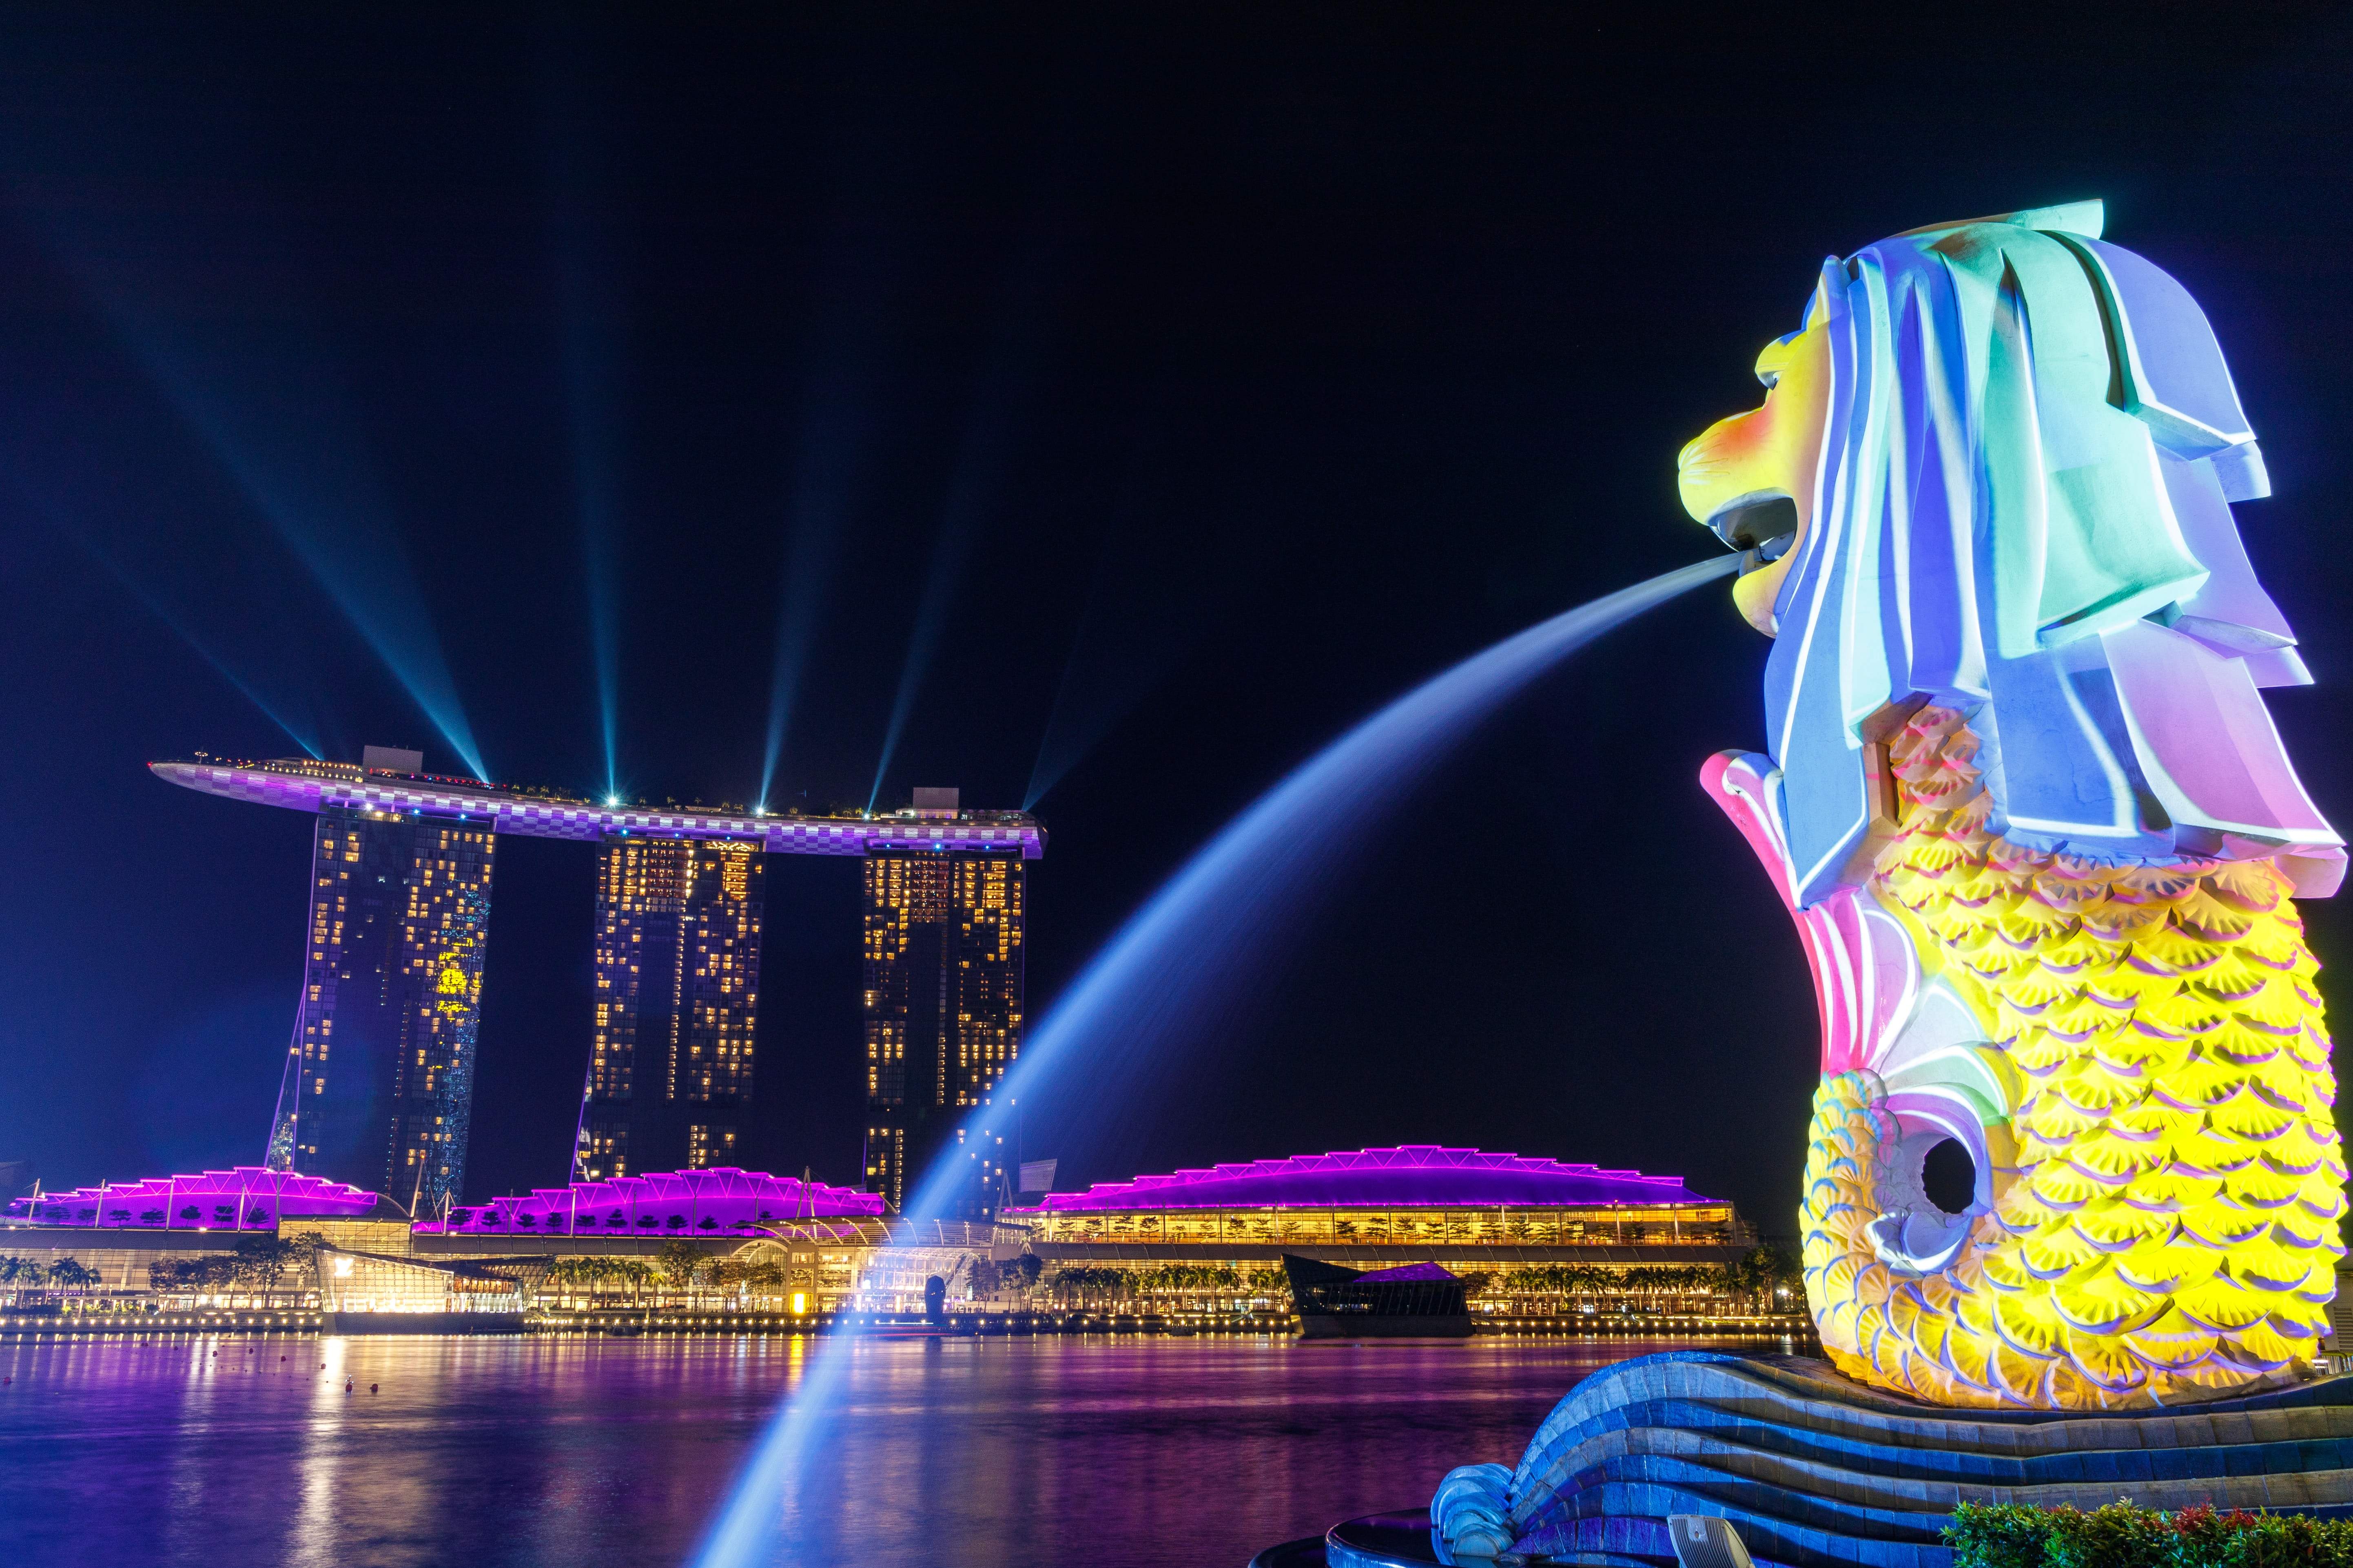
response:
M384 1192L419 1218L464 1199L489 884L501 835L598 846L595 1016L572 1175L739 1164L755 1084L762 856L859 856L866 924L866 1187L911 1173L988 1105L1021 1051L1024 867L1045 830L915 790L889 816L595 804L360 764L148 764L205 795L306 811L311 919L268 1164ZM995 1185L995 1147L974 1152ZM986 1166L981 1171L979 1166Z

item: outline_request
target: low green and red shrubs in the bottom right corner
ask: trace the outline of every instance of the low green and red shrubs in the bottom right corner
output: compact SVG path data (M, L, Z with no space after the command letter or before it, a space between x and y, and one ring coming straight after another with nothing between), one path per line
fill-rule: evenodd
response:
M2353 1568L2353 1521L2209 1507L1962 1502L1944 1540L1953 1568Z

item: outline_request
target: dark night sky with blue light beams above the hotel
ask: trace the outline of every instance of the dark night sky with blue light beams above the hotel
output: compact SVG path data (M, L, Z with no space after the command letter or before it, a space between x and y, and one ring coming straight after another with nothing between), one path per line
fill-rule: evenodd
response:
M2231 355L2353 823L2341 9L1581 9L0 14L0 1159L261 1157L306 820L144 771L193 750L1035 799L1035 1018L1351 722L1708 555L1675 451L1824 254L2089 195ZM1812 990L1694 783L1762 661L1722 588L1574 658L1026 1152L1464 1143L1791 1229ZM475 1199L565 1178L591 872L499 846ZM856 865L769 860L758 1161L856 1178Z

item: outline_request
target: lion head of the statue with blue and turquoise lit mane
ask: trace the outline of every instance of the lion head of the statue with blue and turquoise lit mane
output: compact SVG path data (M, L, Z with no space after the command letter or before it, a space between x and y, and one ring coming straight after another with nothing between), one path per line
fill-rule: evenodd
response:
M1680 458L1748 550L1793 891L1854 884L1882 731L1967 710L2017 844L2344 870L2257 696L2311 677L2231 501L2271 494L2188 292L2101 205L1939 223L1826 261L1758 360L1765 407Z

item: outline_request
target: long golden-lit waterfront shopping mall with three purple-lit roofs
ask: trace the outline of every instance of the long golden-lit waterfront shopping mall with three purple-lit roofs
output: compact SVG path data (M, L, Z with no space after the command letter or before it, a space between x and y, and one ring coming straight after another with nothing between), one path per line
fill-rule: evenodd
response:
M398 1295L386 1284L395 1274L433 1295L445 1274L489 1269L485 1279L515 1286L501 1309L525 1312L795 1298L795 1312L920 1312L936 1279L958 1312L1264 1324L1289 1309L1285 1253L1358 1269L1440 1262L1475 1281L1475 1312L1529 1319L1769 1307L1734 1300L1727 1265L1751 1251L1748 1227L1680 1178L1431 1145L1141 1175L1045 1194L993 1222L913 1222L871 1192L736 1168L579 1180L414 1222L374 1194L311 1187L275 1171L219 1171L21 1201L0 1225L14 1227L9 1251L92 1267L92 1300L219 1295L226 1286L165 1291L153 1265L174 1279L191 1260L226 1269L235 1241L264 1229L348 1253L367 1272L351 1291L369 1300ZM172 1229L179 1215L193 1218ZM188 1229L202 1220L224 1229ZM329 1286L320 1276L313 1288Z

